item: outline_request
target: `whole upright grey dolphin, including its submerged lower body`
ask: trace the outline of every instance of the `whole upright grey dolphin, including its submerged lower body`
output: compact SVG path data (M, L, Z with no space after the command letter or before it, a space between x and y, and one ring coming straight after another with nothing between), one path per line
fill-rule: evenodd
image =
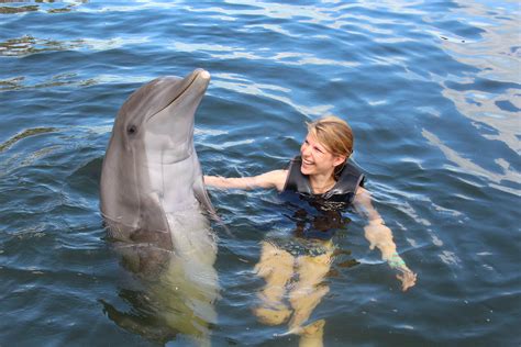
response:
M134 91L118 113L102 164L108 236L146 288L142 299L128 300L134 313L103 302L104 311L155 340L181 333L206 345L215 323L217 242L207 217L215 212L193 146L195 113L209 82L210 74L197 69Z

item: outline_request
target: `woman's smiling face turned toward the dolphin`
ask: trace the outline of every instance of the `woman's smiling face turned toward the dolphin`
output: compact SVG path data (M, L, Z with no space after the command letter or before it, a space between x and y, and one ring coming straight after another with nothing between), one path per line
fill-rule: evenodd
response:
M329 152L311 133L308 133L300 146L300 155L302 156L300 171L303 175L333 175L334 167L345 160L345 157Z

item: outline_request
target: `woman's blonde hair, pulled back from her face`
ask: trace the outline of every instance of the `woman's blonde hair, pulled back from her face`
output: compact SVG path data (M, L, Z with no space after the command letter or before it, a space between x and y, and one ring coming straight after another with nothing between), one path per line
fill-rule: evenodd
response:
M353 154L355 137L344 120L328 115L307 124L308 132L333 155L348 158Z

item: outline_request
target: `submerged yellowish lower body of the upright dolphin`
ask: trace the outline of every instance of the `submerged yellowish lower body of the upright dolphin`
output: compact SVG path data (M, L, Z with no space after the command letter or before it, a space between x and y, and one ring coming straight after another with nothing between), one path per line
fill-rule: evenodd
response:
M130 310L102 300L103 310L120 327L148 340L165 344L179 338L208 346L219 296L212 231L199 211L168 215L168 221L174 250L152 244L114 244L121 265L140 289L119 290Z

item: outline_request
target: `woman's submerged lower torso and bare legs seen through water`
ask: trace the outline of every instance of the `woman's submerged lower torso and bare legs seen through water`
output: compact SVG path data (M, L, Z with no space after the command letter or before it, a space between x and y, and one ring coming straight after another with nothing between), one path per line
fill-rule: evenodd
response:
M292 193L278 208L292 211L285 219L293 231L271 233L260 243L260 257L254 272L264 280L258 291L258 304L253 312L266 325L287 324L287 333L299 336L300 346L322 346L325 320L310 320L330 288L326 277L332 275L335 249L333 236L345 230L350 220L340 211L324 211L314 201L299 201ZM355 266L356 260L341 267Z

